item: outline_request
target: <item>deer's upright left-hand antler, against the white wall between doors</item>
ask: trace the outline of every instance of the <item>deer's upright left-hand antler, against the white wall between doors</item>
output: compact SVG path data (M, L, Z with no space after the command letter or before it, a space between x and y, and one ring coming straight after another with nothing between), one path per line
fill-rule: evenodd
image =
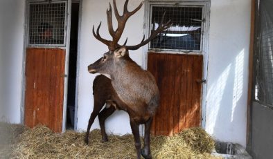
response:
M116 20L118 21L118 28L116 28L116 30L113 29L111 3L109 3L109 10L106 10L108 30L109 30L110 35L112 36L112 41L109 41L109 40L106 40L106 39L103 39L102 37L100 37L100 34L99 34L100 25L98 26L96 33L94 31L94 26L93 26L94 37L96 37L96 39L98 39L99 41L103 42L103 44L107 45L109 50L115 50L116 48L121 46L118 44L118 41L119 41L119 39L121 39L121 35L122 35L123 30L125 28L126 21L127 21L127 19L129 19L129 17L134 15L134 13L137 12L141 8L141 6L143 5L143 1L139 4L139 6L136 9L134 9L132 12L129 12L127 10L128 0L126 0L124 3L123 15L118 14L118 9L116 8L116 0L113 0L113 4L114 4L114 13L116 16ZM101 24L101 22L100 22L100 24ZM125 43L123 44L123 46L125 46L126 43L127 43L127 39L126 39Z

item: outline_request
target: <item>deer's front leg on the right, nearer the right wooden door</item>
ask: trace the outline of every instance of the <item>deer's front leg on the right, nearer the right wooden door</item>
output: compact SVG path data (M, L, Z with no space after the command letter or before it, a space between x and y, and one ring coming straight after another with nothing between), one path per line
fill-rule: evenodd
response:
M152 117L145 123L145 134L144 134L144 147L141 149L141 155L145 159L151 159L151 151L150 151L150 128L152 125Z

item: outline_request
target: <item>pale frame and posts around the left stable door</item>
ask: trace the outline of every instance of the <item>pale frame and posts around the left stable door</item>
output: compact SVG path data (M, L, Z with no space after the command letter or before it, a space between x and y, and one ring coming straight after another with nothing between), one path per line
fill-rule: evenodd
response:
M53 2L58 0L53 0ZM64 1L64 0L60 0ZM25 97L26 97L26 48L28 47L28 16L29 16L29 3L31 2L41 2L44 3L46 0L26 0L25 1L25 19L24 19L24 50L23 50L23 69L22 69L22 88L21 88L21 124L24 124L24 114L25 114ZM45 48L61 48L65 49L65 64L64 64L64 99L63 99L63 111L62 111L62 132L66 130L66 122L67 122L67 89L68 89L68 73L69 73L69 48L70 48L70 30L71 30L71 5L72 2L78 2L79 5L79 19L78 19L78 53L77 56L80 57L80 24L81 24L81 15L82 15L82 0L66 0L66 13L67 17L64 22L64 36L65 36L65 46L46 46ZM35 47L35 46L34 46ZM39 47L39 46L37 46ZM75 103L75 119L77 119L77 111L78 111L78 72L79 72L79 59L77 57L77 71L76 71L76 103ZM77 120L74 120L74 129L77 128Z

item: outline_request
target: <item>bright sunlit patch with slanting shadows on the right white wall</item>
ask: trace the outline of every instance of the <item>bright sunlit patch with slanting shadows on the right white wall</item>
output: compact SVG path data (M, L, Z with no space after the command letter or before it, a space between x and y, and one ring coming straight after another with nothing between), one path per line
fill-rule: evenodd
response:
M247 115L247 104L243 97L243 93L245 96L247 94L247 81L244 81L244 68L247 68L247 64L244 60L245 49L240 50L230 63L227 62L218 79L211 82L207 93L207 108L211 109L206 112L206 130L209 133L215 138L235 140L240 144L245 143L242 135L246 131ZM242 125L245 127L241 127Z

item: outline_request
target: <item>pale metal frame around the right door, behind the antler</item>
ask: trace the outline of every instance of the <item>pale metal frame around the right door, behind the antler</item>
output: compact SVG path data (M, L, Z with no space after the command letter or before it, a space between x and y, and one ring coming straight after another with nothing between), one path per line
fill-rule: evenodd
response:
M183 3L183 6L203 6L203 14L206 21L203 23L204 32L202 35L202 51L195 52L195 53L188 53L184 50L152 50L155 53L174 53L174 54L187 54L187 55L203 55L203 78L206 82L202 84L201 90L201 127L204 129L206 127L206 83L207 83L207 74L208 74L208 63L209 63L209 18L210 18L210 8L211 8L211 1L210 0L172 0L172 1L157 1L157 0L148 0L144 1L144 24L143 24L143 35L150 35L150 6L171 6L176 5L176 3ZM148 66L148 52L149 52L149 45L143 46L143 53L142 53L142 68L147 70Z

